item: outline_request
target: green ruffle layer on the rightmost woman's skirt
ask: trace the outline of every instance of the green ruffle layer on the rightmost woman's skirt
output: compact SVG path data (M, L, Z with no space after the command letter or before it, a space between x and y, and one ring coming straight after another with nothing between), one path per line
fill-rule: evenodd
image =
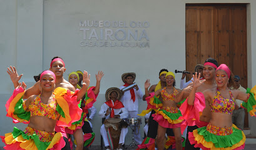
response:
M229 148L234 144L239 143L242 139L242 131L240 129L233 129L233 133L227 136L217 136L215 134L209 133L206 129L207 127L198 128L198 134L205 138L205 141L212 142L215 148Z

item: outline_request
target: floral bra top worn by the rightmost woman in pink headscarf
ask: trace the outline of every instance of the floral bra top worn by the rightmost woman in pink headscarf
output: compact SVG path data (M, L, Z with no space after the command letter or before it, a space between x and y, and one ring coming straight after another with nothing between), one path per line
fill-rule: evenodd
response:
M216 90L215 96L213 98L211 106L211 111L215 113L223 113L223 114L232 114L235 109L235 99L233 98L233 94L228 89L231 99L225 99L220 94L220 91Z

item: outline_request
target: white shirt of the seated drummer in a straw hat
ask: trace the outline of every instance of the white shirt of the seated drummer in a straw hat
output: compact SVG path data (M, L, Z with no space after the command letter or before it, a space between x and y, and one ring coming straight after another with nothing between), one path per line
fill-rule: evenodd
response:
M112 101L112 100L111 100ZM114 103L112 101L112 104L114 106ZM108 114L108 116L105 116L106 111L110 108L110 106L108 106L106 103L104 103L103 105L101 105L100 111L99 111L99 116L101 118L110 118L110 114L111 114L111 109L110 109L110 114ZM128 111L125 108L120 108L120 109L114 109L115 115L120 115L120 119L123 118L128 118Z

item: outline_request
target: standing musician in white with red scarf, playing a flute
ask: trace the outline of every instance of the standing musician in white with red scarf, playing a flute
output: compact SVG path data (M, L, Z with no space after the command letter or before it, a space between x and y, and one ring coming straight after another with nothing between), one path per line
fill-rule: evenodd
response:
M136 74L135 73L124 73L121 76L121 79L123 83L125 83L123 86L120 86L120 89L125 88L126 86L130 86L135 81ZM128 111L129 116L128 118L138 118L138 99L142 99L143 93L141 92L141 89L138 85L135 85L134 88L130 89L129 91L126 91L123 94L123 97L121 98L121 102L123 103L123 106L125 106L125 109ZM141 144L141 137L140 137L140 130L138 128L136 129L134 134L135 138L135 144Z

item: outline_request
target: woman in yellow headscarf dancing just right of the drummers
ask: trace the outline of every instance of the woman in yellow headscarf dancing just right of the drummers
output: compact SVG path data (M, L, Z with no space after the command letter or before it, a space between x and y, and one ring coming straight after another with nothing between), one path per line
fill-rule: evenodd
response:
M182 149L182 133L180 131L180 125L183 123L182 114L175 103L175 95L180 92L180 89L174 88L175 75L172 72L166 73L166 87L155 91L155 94L148 93L148 87L150 87L149 79L145 82L145 96L146 101L150 101L153 96L159 96L163 99L163 106L156 110L153 114L153 119L158 122L157 139L156 144L159 150L164 149L165 146L165 133L166 128L172 128L175 134L176 149Z

